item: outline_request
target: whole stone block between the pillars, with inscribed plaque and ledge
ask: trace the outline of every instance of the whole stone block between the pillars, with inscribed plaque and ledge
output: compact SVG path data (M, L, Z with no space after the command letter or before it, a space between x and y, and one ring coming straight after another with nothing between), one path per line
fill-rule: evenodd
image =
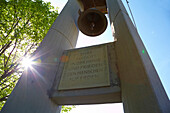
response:
M121 102L114 43L65 50L50 98L58 105Z

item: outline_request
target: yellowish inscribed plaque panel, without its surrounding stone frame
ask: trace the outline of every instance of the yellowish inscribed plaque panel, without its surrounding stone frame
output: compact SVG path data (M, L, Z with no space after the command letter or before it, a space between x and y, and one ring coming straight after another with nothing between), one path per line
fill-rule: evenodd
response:
M107 46L68 51L58 90L110 85Z

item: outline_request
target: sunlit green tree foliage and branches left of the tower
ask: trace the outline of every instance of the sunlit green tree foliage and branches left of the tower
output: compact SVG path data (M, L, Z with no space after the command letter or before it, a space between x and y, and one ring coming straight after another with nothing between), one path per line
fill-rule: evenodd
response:
M42 41L58 16L42 0L0 0L0 109L21 73L21 61Z

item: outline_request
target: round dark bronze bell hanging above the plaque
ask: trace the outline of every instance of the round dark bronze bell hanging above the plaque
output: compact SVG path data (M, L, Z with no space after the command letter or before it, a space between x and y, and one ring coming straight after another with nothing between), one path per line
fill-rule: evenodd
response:
M87 36L98 36L106 30L107 19L99 10L87 9L80 13L78 27Z

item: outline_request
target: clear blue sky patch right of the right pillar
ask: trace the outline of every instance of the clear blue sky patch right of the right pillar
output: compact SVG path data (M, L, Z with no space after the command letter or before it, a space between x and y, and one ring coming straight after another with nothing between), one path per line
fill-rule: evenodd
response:
M129 1L138 32L170 98L170 1Z

